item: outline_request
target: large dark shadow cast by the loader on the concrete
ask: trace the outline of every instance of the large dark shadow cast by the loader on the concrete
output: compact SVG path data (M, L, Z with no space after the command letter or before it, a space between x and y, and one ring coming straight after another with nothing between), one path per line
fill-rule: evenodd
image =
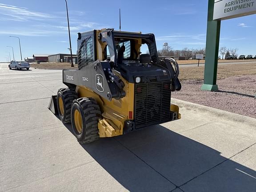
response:
M131 192L256 191L254 170L160 125L81 146Z

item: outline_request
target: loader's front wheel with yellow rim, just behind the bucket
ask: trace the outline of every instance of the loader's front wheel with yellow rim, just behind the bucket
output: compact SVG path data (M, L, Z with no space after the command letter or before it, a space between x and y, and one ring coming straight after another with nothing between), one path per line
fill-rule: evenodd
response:
M60 116L60 120L65 123L71 122L71 106L73 100L77 99L77 93L71 88L61 88L57 94L57 108ZM61 102L62 100L62 106Z

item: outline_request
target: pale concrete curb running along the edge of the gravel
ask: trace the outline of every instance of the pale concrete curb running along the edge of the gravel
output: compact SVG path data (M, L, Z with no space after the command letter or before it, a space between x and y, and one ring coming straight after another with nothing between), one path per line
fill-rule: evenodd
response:
M256 128L256 119L252 118L252 117L242 116L242 115L239 115L236 113L227 112L227 111L207 107L207 106L200 105L200 104L190 103L188 101L177 100L174 98L171 99L171 103L178 105L180 108L184 107L184 108L192 109L196 112L212 114L212 115L220 117L221 119L224 119L224 120L232 120L232 121L248 124L248 125L251 125Z

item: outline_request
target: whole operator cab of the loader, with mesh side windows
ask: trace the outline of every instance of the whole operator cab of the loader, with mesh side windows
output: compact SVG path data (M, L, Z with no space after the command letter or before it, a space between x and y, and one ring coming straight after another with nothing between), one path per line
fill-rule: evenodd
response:
M152 64L160 63L153 34L93 30L78 33L77 46L79 70L96 60L108 60L112 68L139 62L141 53L149 54Z

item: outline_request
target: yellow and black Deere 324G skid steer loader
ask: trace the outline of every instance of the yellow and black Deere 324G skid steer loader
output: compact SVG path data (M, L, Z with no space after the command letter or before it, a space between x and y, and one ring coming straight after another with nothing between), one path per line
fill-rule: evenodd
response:
M159 60L153 34L78 33L77 54L78 69L63 70L68 88L48 108L71 122L81 144L180 119L171 104L171 92L181 89L179 67L172 58Z

